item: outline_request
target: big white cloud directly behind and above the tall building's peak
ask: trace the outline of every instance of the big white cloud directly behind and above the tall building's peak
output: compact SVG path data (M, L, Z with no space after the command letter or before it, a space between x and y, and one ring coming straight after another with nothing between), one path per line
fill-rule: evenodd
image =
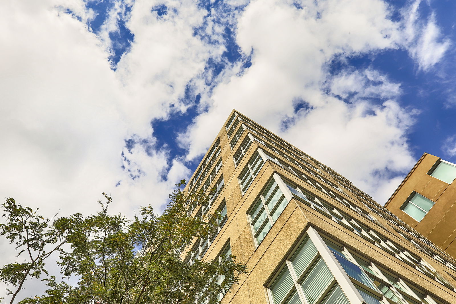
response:
M217 131L207 130L235 108L384 201L377 189L390 189L392 176L414 163L407 130L416 112L399 105L400 84L373 68L329 71L334 58L398 47L400 24L382 1L300 4L252 1L245 8L236 39L244 54L253 52L252 66L213 89L207 112L185 136L187 157L205 150Z

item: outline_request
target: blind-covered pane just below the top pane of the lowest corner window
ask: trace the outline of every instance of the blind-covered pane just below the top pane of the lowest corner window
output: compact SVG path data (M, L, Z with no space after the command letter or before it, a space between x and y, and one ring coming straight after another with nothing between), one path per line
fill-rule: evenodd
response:
M302 282L307 302L313 304L332 281L332 273L320 257Z

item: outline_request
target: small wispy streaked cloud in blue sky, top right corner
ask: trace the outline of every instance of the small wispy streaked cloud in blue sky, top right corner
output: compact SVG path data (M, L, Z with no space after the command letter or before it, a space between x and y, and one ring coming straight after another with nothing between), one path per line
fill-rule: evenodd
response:
M420 19L420 4L422 0L415 0L402 10L404 16L403 44L408 49L421 70L428 70L441 58L451 45L451 41L442 37L440 29L432 12L427 21Z

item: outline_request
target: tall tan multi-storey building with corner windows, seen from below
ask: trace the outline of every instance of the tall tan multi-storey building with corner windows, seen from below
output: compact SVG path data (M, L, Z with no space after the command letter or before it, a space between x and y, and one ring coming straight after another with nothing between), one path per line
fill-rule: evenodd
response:
M192 260L249 273L230 304L455 304L456 261L342 175L233 110L186 190L223 215Z

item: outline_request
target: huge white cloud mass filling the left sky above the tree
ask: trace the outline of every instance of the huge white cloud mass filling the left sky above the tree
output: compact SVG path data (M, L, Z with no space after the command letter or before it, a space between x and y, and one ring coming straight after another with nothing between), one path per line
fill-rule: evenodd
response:
M168 115L170 105L185 109L186 84L219 52L192 35L206 12L192 1L169 2L170 13L159 20L150 12L153 1L135 1L128 23L135 42L115 72L106 33L116 30L119 7L97 37L85 25L94 12L84 1L0 4L2 198L40 207L44 215L91 214L101 192L112 195L113 212L132 215L145 204L162 210L189 172L157 151L150 121ZM150 147L137 144L130 154L124 139L131 137ZM128 169L140 177L131 179Z

